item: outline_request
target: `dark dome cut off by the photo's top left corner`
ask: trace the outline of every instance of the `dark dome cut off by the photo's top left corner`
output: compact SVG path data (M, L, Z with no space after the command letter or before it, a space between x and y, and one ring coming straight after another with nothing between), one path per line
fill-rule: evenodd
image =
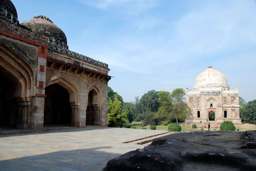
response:
M19 25L16 8L10 0L0 0L0 17L16 26Z

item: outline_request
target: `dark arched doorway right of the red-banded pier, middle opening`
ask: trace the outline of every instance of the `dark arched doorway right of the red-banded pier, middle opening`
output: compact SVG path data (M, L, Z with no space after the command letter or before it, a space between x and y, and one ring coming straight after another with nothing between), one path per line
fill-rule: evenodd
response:
M45 88L44 125L71 125L72 108L68 91L57 83Z

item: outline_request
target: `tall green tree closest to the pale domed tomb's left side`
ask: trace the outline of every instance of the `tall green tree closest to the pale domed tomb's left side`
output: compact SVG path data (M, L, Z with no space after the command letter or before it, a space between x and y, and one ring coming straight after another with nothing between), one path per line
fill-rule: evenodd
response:
M176 117L178 123L178 117L185 118L189 111L187 104L184 102L185 91L181 88L174 89L171 98L173 104L171 115Z

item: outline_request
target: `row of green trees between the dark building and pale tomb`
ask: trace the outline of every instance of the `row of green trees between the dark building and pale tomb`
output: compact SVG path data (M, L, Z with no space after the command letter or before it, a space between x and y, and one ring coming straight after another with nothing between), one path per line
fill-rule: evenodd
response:
M172 93L150 90L134 102L123 98L108 87L108 126L121 127L132 121L143 121L144 125L167 125L184 122L190 109L185 103L185 91L174 89Z

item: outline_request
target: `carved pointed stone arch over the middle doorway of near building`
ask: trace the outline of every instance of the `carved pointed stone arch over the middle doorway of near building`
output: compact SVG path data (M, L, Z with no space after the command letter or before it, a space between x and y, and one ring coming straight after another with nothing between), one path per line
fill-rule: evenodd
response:
M69 93L69 102L74 102L78 105L78 90L76 87L67 81L64 77L60 77L45 83L45 87L52 85L54 83L59 84L60 86L64 87Z

